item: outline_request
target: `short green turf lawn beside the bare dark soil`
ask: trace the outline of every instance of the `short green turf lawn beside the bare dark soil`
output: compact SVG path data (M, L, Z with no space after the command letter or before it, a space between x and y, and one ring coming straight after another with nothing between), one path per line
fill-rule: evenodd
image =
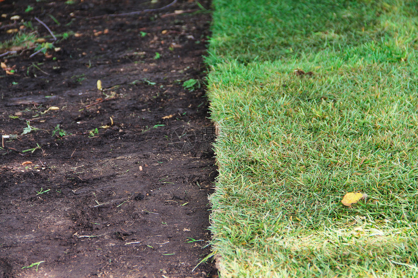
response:
M213 4L222 277L418 277L418 1Z

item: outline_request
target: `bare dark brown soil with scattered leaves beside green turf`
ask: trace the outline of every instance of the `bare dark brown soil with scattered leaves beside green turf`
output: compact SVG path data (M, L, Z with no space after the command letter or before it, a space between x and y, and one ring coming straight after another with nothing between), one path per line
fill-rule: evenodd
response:
M0 278L217 277L210 3L170 3L0 2L44 39L0 49Z

